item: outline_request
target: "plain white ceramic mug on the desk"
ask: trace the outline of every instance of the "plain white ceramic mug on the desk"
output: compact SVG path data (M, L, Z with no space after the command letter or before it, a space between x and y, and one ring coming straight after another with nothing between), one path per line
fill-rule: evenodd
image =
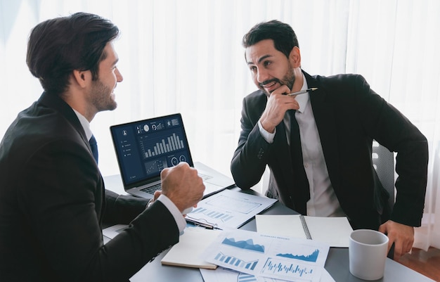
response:
M363 280L377 280L384 276L388 237L370 229L358 229L350 234L350 273Z

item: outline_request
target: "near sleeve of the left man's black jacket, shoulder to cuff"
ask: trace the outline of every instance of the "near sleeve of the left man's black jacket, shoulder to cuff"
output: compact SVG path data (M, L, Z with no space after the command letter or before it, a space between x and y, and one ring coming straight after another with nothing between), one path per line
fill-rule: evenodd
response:
M179 240L172 214L155 203L103 245L103 210L96 204L105 198L102 178L85 146L54 141L29 158L25 171L18 193L32 248L58 281L127 281Z

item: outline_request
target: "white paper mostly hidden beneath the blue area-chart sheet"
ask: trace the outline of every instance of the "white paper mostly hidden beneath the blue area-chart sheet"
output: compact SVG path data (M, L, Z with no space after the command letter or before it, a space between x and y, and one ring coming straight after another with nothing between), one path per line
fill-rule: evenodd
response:
M216 270L212 269L200 269L203 281L205 282L285 282L285 280L258 277L252 274L245 274L238 271L231 271L231 269L224 269L219 267ZM320 282L336 282L335 279L330 276L328 271L324 269L321 275Z

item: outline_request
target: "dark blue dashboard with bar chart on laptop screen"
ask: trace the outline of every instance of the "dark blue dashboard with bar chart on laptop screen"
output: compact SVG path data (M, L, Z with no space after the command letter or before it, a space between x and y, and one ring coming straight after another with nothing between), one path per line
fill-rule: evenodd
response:
M180 114L110 127L124 184L159 177L179 162L193 165Z

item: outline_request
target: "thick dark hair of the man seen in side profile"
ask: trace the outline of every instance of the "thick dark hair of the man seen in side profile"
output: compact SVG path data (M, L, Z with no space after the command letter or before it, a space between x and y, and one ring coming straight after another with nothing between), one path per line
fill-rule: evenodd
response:
M39 23L30 33L26 63L48 94L63 94L73 70L90 70L98 79L98 67L107 54L105 45L119 35L110 20L90 13L75 13Z

